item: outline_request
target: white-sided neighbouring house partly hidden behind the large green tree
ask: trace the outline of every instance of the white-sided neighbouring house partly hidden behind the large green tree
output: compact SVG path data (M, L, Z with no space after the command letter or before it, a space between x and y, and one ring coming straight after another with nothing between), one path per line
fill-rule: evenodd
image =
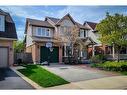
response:
M103 45L99 41L99 33L96 30L96 25L97 23L94 22L84 22L84 26L90 28L90 30L88 30L88 37L90 37L94 42L96 42L96 44L92 47L89 46L89 55L93 56L97 54L105 54L107 55L107 59L112 59L113 57L114 59L117 58L117 50L115 50L113 46ZM127 59L127 47L122 48L122 50L120 51L120 59Z

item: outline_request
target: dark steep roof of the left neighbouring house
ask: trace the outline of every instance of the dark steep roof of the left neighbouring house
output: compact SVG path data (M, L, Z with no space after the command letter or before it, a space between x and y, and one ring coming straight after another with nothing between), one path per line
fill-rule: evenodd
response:
M1 38L17 39L15 24L9 13L0 9L0 14L5 16L5 31L0 31Z

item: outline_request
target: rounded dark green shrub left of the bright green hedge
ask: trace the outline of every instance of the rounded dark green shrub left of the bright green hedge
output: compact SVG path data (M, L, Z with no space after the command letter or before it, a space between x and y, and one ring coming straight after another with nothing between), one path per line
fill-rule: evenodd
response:
M91 57L90 61L92 63L103 63L105 61L105 56L102 54L95 55L95 56Z

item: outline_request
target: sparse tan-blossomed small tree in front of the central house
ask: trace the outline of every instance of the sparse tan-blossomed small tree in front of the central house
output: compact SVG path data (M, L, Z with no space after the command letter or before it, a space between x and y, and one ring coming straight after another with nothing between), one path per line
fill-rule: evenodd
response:
M68 61L69 63L72 63L71 58L74 57L75 60L78 60L78 57L75 52L76 44L80 45L80 50L83 49L84 42L79 39L79 28L74 25L72 27L66 27L63 29L63 31L59 34L55 35L56 42L58 42L60 45L64 46L64 44L67 44L67 52L68 52Z

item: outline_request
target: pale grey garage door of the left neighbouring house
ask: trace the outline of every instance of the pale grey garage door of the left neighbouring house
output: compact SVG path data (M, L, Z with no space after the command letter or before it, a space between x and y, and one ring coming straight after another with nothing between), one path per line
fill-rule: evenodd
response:
M0 47L0 68L8 66L8 48Z

